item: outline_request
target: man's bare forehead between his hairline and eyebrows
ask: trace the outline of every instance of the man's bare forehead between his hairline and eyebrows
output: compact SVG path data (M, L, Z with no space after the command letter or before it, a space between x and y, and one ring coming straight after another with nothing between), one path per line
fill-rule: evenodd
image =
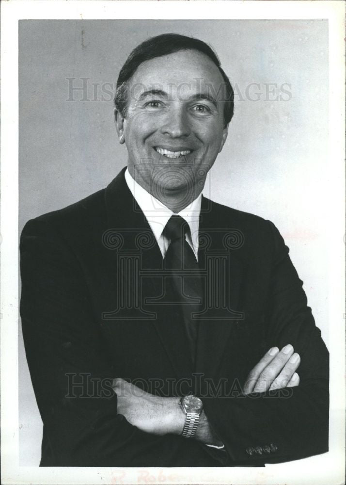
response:
M144 61L130 80L132 93L141 94L147 88L170 93L220 92L224 83L218 67L208 56L197 50L180 50Z

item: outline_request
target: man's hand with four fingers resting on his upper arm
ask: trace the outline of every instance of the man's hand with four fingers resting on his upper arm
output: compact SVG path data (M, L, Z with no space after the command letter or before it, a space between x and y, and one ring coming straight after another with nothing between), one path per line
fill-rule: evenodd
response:
M271 348L249 373L244 394L298 386L299 364L300 356L294 353L292 345L286 345L280 352L277 347Z

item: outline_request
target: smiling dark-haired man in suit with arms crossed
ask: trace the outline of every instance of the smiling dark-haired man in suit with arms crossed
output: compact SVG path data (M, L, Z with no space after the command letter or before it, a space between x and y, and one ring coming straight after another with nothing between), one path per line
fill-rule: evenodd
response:
M232 115L204 42L143 42L115 97L127 169L25 226L41 466L263 466L328 450L328 351L288 249L269 221L201 195Z

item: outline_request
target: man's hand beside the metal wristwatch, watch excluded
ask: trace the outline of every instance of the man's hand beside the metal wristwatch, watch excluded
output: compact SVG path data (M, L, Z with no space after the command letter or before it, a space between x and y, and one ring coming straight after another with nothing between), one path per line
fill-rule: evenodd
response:
M154 435L182 433L185 416L179 397L154 396L121 378L114 379L112 387L118 397L118 414L133 426Z

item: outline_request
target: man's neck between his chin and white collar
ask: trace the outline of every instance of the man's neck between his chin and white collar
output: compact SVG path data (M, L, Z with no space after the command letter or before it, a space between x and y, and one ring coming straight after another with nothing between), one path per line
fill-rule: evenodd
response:
M203 190L203 186L201 187L199 184L189 185L178 189L162 187L155 183L155 180L147 180L146 178L141 177L141 174L139 173L140 171L133 170L130 166L128 166L128 171L131 177L141 185L143 189L162 202L162 204L172 210L175 214L191 204Z

